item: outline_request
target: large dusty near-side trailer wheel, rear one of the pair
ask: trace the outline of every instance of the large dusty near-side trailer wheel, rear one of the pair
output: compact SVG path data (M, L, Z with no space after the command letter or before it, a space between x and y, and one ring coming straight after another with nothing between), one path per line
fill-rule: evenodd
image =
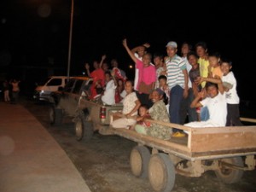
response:
M148 163L148 179L155 191L170 192L175 182L175 168L167 154L151 156Z

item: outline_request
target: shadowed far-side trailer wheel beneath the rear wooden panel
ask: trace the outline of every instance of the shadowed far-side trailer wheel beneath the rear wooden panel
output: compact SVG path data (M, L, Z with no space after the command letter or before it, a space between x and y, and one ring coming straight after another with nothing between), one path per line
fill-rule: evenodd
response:
M233 157L218 160L218 170L215 171L216 176L219 179L221 179L224 183L238 182L243 175L243 170L230 168L228 166L225 166L224 163L229 163L232 165L243 167L244 164L241 157Z

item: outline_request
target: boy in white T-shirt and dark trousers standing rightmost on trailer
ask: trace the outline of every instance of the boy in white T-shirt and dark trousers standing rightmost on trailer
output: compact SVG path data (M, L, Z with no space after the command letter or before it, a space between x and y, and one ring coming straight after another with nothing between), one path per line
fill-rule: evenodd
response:
M239 112L239 96L236 92L236 78L234 73L230 72L232 63L228 60L223 59L220 65L223 73L222 81L224 84L224 90L226 91L227 101L227 122L226 126L241 126L240 112Z

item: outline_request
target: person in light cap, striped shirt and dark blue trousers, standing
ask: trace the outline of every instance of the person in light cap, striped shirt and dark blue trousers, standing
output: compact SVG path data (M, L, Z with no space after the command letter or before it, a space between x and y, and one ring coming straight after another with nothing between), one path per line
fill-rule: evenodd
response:
M188 72L185 61L177 55L177 43L166 44L166 76L170 90L169 113L172 123L180 124L180 107L183 97L188 96ZM184 137L183 131L173 129L172 137Z

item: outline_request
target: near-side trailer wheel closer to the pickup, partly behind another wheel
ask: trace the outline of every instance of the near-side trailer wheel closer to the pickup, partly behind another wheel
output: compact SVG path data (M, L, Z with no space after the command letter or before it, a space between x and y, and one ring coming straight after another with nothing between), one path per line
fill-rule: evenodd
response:
M144 146L136 146L132 148L130 154L131 172L136 177L148 177L148 162L150 152Z

